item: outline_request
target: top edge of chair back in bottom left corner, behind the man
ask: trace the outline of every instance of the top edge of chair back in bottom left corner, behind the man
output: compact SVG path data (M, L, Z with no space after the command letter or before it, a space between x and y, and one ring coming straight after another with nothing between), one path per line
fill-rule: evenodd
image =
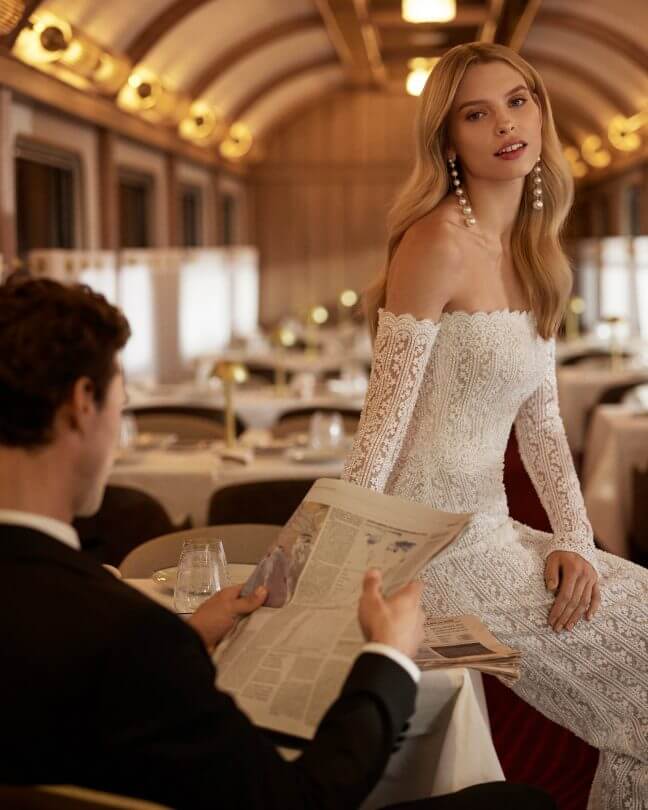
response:
M77 785L0 785L7 810L170 810L165 805Z

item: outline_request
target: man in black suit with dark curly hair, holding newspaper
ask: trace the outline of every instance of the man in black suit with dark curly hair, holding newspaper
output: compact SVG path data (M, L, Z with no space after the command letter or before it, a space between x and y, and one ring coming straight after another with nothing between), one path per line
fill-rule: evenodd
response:
M209 657L264 590L226 588L185 623L79 552L70 522L101 501L129 333L85 287L0 287L0 783L77 784L191 810L357 807L414 708L420 588L385 599L379 573L367 575L359 618L370 643L305 753L285 762L214 687ZM522 805L552 806L505 783L423 804Z

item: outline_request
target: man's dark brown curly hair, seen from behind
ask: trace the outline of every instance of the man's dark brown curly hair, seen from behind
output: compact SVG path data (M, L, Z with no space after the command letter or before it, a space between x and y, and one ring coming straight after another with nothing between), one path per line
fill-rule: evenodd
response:
M0 444L48 444L82 377L101 406L129 337L124 315L89 287L10 277L0 286Z

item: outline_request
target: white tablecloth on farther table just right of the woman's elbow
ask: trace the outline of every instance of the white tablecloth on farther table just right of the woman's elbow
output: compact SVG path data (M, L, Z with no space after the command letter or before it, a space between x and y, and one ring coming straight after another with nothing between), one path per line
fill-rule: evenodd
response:
M601 394L615 385L648 380L648 369L578 365L559 367L557 370L558 399L567 440L573 453L580 453L585 445L587 414Z

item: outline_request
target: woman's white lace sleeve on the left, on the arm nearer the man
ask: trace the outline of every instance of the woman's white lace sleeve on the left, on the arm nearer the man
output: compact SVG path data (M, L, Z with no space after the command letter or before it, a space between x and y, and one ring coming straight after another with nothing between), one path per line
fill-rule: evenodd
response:
M380 311L367 398L343 479L384 491L438 331L433 321Z

